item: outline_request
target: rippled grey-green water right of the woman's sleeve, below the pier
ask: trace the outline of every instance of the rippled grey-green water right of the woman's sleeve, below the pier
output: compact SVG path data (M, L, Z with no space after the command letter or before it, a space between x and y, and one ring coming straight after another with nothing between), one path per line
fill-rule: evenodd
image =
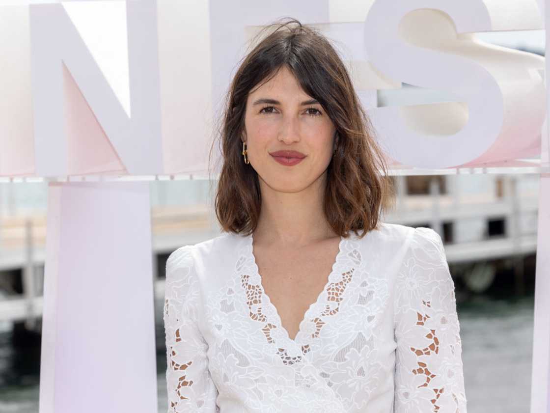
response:
M529 413L534 295L461 307L468 413Z

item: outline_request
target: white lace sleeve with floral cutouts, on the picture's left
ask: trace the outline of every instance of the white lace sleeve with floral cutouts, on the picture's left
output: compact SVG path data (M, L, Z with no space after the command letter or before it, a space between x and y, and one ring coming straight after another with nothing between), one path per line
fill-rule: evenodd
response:
M217 388L208 370L208 348L197 326L199 290L191 251L186 245L166 262L164 332L168 412L218 412Z

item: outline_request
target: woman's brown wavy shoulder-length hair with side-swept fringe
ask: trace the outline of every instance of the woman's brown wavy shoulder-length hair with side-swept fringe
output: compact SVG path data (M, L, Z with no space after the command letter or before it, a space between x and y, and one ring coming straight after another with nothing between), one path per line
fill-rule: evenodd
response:
M215 198L216 217L224 232L249 235L256 229L260 184L256 171L241 155L246 100L253 88L286 65L302 89L321 104L339 136L327 168L323 205L327 222L344 238L350 230L356 235L363 230L362 238L378 229L379 216L384 208L393 206L395 195L375 131L348 71L327 38L296 19L283 18L266 26L255 39L265 32L268 35L241 60L225 98L217 134L223 164Z

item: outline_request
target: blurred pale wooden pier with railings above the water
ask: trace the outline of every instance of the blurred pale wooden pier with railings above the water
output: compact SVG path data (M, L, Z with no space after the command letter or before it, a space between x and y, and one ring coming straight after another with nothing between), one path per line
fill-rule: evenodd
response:
M396 207L385 214L383 221L433 228L442 236L449 265L471 264L472 276L490 277L491 266L487 262L536 252L538 191L518 189L518 181L524 178L495 175L493 179L499 181L495 191L461 194L456 175L443 176L445 190L441 193L440 175L439 181L430 179L426 194L410 194L406 188L410 178L396 176ZM501 222L502 234L491 234L489 222ZM206 205L152 207L151 225L155 299L162 300L167 255L179 246L221 233ZM28 329L40 329L37 318L42 315L45 244L45 213L0 217L0 323L24 322ZM476 267L476 263L484 265ZM478 282L477 288L486 288L488 282L492 280ZM3 292L5 287L13 289L16 284L22 291Z

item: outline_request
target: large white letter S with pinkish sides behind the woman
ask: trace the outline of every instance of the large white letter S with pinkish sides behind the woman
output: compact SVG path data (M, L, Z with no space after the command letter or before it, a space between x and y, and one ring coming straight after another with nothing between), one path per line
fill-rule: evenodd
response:
M371 63L394 80L456 96L371 109L388 155L425 168L538 155L544 59L483 44L472 33L541 26L535 0L376 1L365 21Z

